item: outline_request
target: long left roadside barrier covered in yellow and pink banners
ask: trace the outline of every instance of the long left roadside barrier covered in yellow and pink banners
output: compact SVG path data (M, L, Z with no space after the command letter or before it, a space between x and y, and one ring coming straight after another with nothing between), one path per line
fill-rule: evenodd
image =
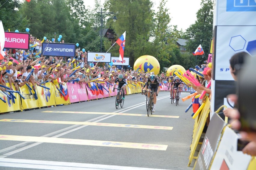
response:
M6 85L10 87L8 83ZM12 86L13 89L15 89L14 85ZM0 93L0 97L6 101L6 103L4 103L4 101L0 101L0 113L108 98L116 96L117 94L117 91L113 92L113 86L113 83L110 84L100 81L90 82L88 84L68 82L62 83L61 85L58 83L55 85L47 82L46 84L43 84L43 87L36 85L34 91L32 84L24 85L19 87L19 92L24 99L21 98L18 93L11 94L6 92L6 94L9 94L8 96L2 92ZM142 86L142 82L129 81L126 86L125 94L130 95L141 93ZM160 90L168 91L168 84L160 84ZM191 90L193 89L184 88L182 91L191 92Z

